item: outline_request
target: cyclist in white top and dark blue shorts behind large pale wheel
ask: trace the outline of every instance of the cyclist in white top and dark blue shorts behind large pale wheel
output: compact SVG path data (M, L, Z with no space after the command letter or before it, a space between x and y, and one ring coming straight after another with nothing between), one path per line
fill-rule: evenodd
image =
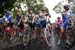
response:
M44 40L44 29L46 28L46 10L41 9L39 13L39 18L40 18L40 28L41 28L41 39L42 42Z

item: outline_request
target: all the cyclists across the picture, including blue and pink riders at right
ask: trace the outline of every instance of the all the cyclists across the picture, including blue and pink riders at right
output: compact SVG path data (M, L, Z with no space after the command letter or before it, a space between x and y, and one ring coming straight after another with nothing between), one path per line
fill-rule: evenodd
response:
M56 27L60 26L58 45L60 45L65 27L69 25L70 21L74 22L74 15L69 11L69 5L64 5L63 8L64 11L61 14L62 20L60 17L58 17L56 20ZM35 30L36 27L40 28L41 37L43 38L44 29L46 28L46 26L49 28L50 33L52 33L52 25L50 23L51 16L46 12L44 8L40 9L38 15L34 13L32 8L28 9L28 13L25 16L21 15L21 11L19 11L19 9L17 9L15 12L15 19L13 19L13 15L10 11L7 11L5 16L3 16L3 18L0 18L0 23L4 25L5 31L8 31L10 29L15 30L17 28L19 31L23 31L25 27L29 26L32 29L34 40L37 40L37 33ZM7 26L9 26L10 28L8 28ZM11 39L12 36L16 36L16 33L11 33ZM69 43L68 40L67 43Z

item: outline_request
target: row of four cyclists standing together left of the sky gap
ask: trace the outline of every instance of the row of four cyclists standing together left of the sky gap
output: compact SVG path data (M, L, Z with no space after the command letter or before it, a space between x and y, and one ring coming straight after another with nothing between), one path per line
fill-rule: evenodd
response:
M32 8L28 9L28 13L24 16L21 15L21 11L17 9L16 11L16 17L13 19L13 15L11 11L6 11L6 14L3 16L3 18L0 18L0 23L3 24L3 28L5 32L11 32L10 36L12 39L13 36L16 36L16 29L18 31L23 31L26 27L30 27L33 33L33 39L37 40L37 33L35 28L39 27L41 30L41 37L44 38L44 29L46 26L48 26L50 32L51 30L51 23L50 23L50 15L48 12L46 12L45 8L42 8L39 10L39 14L36 15ZM13 32L15 33L12 33ZM44 39L43 39L44 40Z

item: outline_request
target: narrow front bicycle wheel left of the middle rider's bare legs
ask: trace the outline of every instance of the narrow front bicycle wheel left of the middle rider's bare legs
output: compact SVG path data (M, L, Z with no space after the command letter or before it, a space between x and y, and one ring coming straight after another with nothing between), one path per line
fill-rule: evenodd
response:
M27 46L30 41L30 33L31 29L28 24L24 24L23 36L22 36L22 43L24 46Z

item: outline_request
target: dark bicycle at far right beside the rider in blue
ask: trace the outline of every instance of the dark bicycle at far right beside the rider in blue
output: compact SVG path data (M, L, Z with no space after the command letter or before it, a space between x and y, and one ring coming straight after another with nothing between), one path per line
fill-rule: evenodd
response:
M69 26L67 26L65 28L64 34L63 34L63 43L64 43L64 47L69 49L74 45L75 42L75 34L74 34L74 25L71 25L71 23L69 23ZM69 43L67 43L66 41L68 40Z

